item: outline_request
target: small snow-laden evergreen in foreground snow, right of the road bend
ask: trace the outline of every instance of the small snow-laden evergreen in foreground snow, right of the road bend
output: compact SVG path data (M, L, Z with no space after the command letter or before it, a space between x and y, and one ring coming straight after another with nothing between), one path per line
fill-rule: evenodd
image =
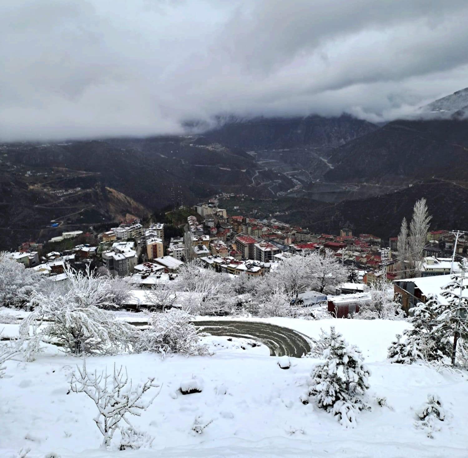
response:
M333 326L327 342L322 355L325 362L312 372L312 384L302 402L314 401L337 416L343 426L353 427L357 411L370 408L365 395L371 371L363 363L359 349L349 345Z

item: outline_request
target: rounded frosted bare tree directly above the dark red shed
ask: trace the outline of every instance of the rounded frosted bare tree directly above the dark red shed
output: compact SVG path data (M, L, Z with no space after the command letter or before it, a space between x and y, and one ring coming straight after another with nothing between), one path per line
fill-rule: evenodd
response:
M309 275L311 277L310 286L315 291L323 293L330 286L339 285L347 280L348 271L336 259L332 250L325 250L325 254L318 255L312 253L308 257Z

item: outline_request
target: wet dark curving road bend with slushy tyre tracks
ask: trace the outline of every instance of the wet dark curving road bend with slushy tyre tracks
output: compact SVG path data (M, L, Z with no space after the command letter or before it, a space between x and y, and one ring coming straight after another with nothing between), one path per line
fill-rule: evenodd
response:
M271 356L300 358L310 352L309 339L298 331L270 323L252 321L194 321L201 332L213 336L229 336L258 340L270 349Z

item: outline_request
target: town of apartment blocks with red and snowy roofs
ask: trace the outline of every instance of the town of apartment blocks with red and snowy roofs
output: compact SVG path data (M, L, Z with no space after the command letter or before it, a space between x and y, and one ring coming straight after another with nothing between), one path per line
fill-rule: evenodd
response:
M413 267L419 280L410 275L409 281L405 278L409 274L405 267L408 261L398 251L398 237L382 240L369 233L354 234L349 228L341 229L339 234L310 233L276 218L230 216L218 203L219 196L215 196L190 209L179 209L190 213L186 223L178 228L179 237L165 235L167 223L143 224L133 218L98 233L95 245L80 243L44 253L41 244L27 241L8 256L54 282L66 281L66 265L81 270L91 266L101 275L126 278L138 290L176 278L183 266L194 261L200 268L230 276L261 278L285 260L313 253L331 257L345 273L345 281L341 279L339 284L328 288L328 299L323 291L315 296L322 298L317 304L323 306L327 302L328 311L337 317L347 316L350 304L352 310L358 311L359 304L369 297L366 293L369 287L382 283L393 288L402 309L408 312L417 300L438 292L439 282L426 278L459 271L462 259L467 256L468 238L464 233L428 231L421 257ZM45 246L59 246L64 240L73 245L73 240L83 237L86 241L91 234L64 232ZM444 281L441 279L441 285ZM301 292L303 296L311 293L316 292ZM128 305L133 303L129 299Z

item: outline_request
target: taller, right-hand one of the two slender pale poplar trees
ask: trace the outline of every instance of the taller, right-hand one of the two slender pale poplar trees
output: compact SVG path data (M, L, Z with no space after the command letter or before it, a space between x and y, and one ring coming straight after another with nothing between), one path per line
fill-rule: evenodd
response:
M421 260L423 258L424 246L427 242L427 232L429 231L431 218L427 210L426 199L423 197L415 203L413 218L411 218L411 222L409 223L409 278L420 276Z

